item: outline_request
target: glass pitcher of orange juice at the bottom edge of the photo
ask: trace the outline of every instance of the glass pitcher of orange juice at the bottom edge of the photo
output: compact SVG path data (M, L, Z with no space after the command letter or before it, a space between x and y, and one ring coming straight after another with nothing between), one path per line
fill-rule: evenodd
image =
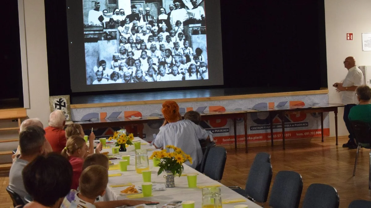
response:
M221 191L219 187L202 189L202 208L221 208Z

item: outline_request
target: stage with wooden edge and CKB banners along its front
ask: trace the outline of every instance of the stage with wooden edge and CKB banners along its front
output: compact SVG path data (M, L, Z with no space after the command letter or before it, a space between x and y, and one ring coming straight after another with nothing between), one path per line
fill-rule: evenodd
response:
M249 112L246 115L247 121L242 117L233 119L214 116L201 123L203 128L213 132L219 145L234 144L236 140L238 144L245 143L245 128L249 142L270 142L272 138L282 140L282 126L278 124L283 122L286 128L284 135L286 140L321 137L321 135L328 137L329 118L326 112L322 112L323 125L321 125L321 114L312 111L308 114L298 111L289 115L251 111L256 108L328 104L328 90L288 91L290 89L270 89L269 93L261 88L260 90L220 88L75 96L71 98L71 116L73 121L83 123L137 120L135 124L125 125L124 128L128 131L139 130L145 140L151 141L152 135L157 134L158 128L162 125L161 104L166 100L174 100L179 104L181 113L189 110L196 110L201 114ZM270 127L270 121L273 127ZM108 128L99 128L101 124L94 125L97 127L94 132L98 137L107 137L113 131L122 128L122 126L109 126L109 124L105 124L109 126ZM323 127L323 134L321 127ZM270 128L273 128L274 134L270 133Z

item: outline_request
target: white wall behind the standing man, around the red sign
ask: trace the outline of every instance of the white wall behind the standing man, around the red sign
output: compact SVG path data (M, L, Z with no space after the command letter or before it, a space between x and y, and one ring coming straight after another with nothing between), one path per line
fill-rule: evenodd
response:
M358 66L371 65L371 51L362 51L361 33L371 32L370 0L325 0L327 80L329 103L341 103L341 95L332 84L342 81L347 69L343 61L354 56ZM353 33L354 40L346 40ZM338 132L347 135L343 121L343 109L339 108ZM330 114L330 134L335 136L334 113Z

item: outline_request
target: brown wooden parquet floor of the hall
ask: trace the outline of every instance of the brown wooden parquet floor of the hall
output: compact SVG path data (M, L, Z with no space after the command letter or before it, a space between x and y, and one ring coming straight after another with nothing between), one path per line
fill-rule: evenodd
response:
M313 142L313 140L316 140ZM224 185L238 185L244 188L250 165L257 152L268 152L271 155L273 179L278 171L291 170L302 175L303 200L306 189L312 183L332 185L338 190L340 207L347 208L355 199L371 200L368 191L368 162L369 150L362 148L359 151L356 175L353 177L353 167L356 150L342 148L341 144L347 138L339 138L339 145L334 139L321 142L313 139L312 142L286 144L286 150L281 145L272 147L251 147L249 153L243 149L235 152L227 150L227 162L224 170ZM325 139L326 140L326 139ZM5 187L9 183L9 172L0 172L0 208L13 207Z

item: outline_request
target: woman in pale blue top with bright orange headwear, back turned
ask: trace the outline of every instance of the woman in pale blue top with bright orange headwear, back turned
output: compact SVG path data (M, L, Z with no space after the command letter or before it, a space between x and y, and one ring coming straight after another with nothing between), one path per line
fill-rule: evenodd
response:
M212 141L212 133L202 129L190 120L182 120L179 106L174 101L163 103L161 111L165 121L160 127L160 132L158 132L153 144L156 148L165 148L167 145L181 148L185 154L191 155L193 159L193 164L190 164L189 161L185 164L196 168L201 163L203 156L198 140L210 138Z

